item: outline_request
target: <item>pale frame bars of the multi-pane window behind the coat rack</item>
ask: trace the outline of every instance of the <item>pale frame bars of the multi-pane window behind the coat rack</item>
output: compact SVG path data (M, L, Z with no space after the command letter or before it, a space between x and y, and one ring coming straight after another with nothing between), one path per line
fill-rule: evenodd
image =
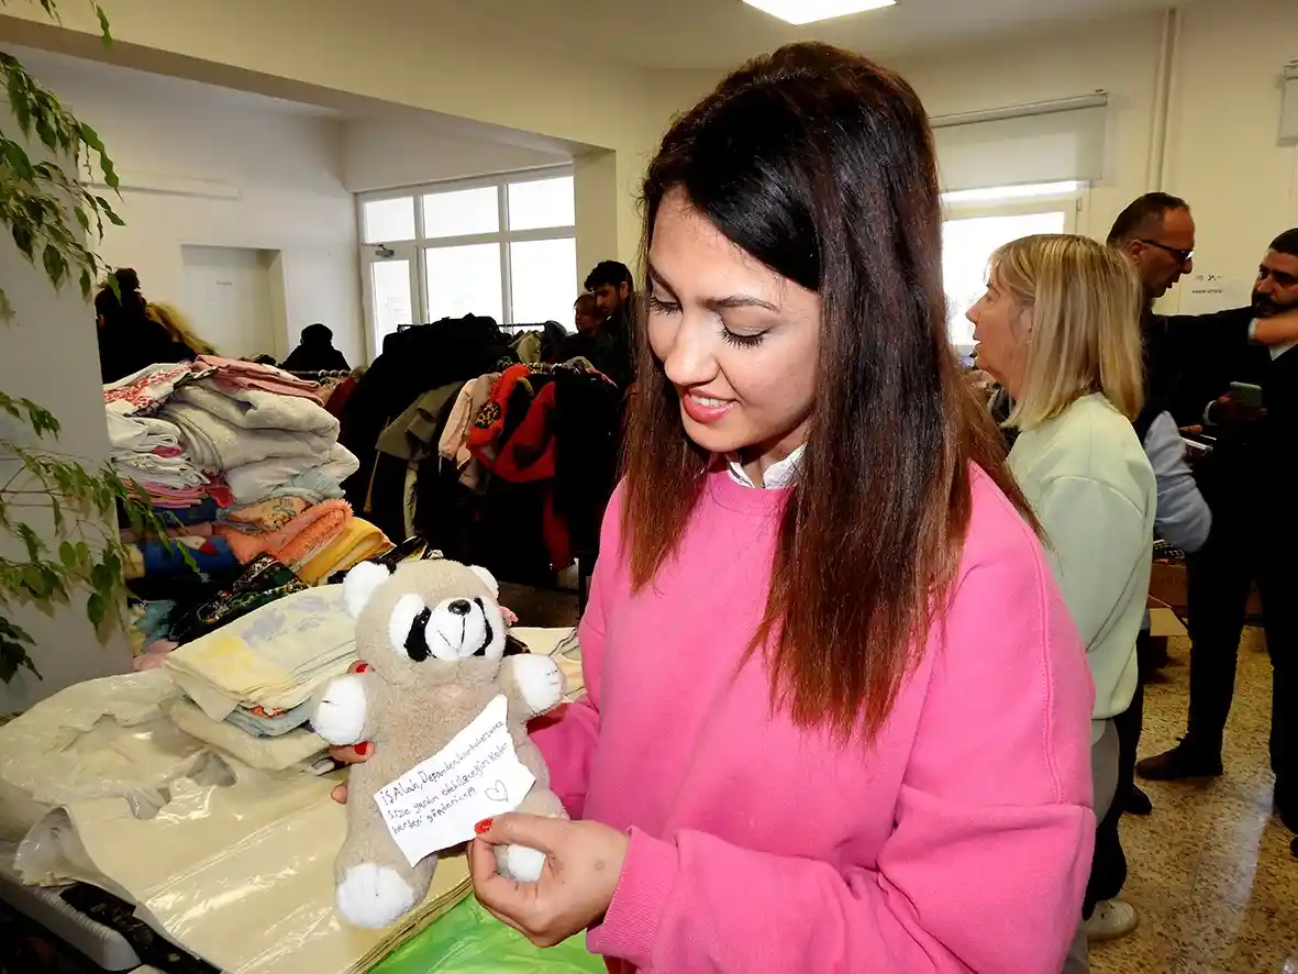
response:
M445 179L418 186L402 186L392 190L374 190L356 195L357 230L361 238L361 278L365 292L365 325L367 340L371 345L371 358L382 351L383 336L378 334L373 300L373 270L371 265L387 257L384 251L395 251L400 258L413 256L410 304L415 317L427 321L428 310L428 277L427 253L434 249L448 247L466 247L472 244L497 244L500 247L500 287L501 309L504 319L500 322L501 330L514 331L523 325L539 322L514 322L514 295L513 295L513 269L510 266L510 244L530 243L536 240L576 240L576 214L574 222L565 226L539 227L532 230L509 229L509 187L520 183L535 183L546 179L571 178L574 169L571 165L544 166L539 169L526 169L513 173L496 173L491 175L471 177L466 179ZM488 234L462 234L457 236L424 236L424 196L443 192L457 192L461 190L496 190L496 209L498 230ZM384 240L382 243L365 242L365 205L382 200L414 199L414 229L413 240ZM580 282L579 282L580 283Z

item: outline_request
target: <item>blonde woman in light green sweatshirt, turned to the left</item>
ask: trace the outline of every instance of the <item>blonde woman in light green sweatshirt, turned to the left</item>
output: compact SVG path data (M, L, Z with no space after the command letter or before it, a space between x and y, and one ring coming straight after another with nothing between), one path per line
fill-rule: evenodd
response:
M1050 566L1096 681L1097 819L1118 783L1112 717L1136 691L1158 501L1132 427L1144 401L1140 312L1140 282L1121 255L1068 235L1029 236L997 251L986 293L968 312L979 366L1014 400L1006 425L1019 435L1010 469L1045 529ZM1084 916L1093 906L1088 901ZM1107 936L1136 926L1128 904L1106 901L1103 912ZM1064 970L1086 970L1085 930Z

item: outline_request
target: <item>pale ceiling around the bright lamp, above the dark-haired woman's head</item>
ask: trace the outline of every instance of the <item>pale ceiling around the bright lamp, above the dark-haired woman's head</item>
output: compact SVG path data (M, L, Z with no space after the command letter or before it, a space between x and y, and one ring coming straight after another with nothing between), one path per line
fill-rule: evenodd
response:
M898 0L793 27L741 0L474 0L487 23L646 68L726 69L793 40L898 57L1171 6L1176 0Z

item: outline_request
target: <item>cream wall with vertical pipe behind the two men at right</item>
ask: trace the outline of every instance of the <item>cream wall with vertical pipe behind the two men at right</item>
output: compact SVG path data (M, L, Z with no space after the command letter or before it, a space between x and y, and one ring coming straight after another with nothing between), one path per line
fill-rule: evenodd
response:
M1102 238L1131 200L1166 190L1194 209L1197 270L1247 281L1276 232L1298 225L1298 158L1277 138L1284 65L1298 58L1298 4L1199 0L1182 18L1162 184L1147 179L1160 13L892 66L933 116L1108 91L1107 173L1079 232ZM1179 299L1173 291L1172 309Z

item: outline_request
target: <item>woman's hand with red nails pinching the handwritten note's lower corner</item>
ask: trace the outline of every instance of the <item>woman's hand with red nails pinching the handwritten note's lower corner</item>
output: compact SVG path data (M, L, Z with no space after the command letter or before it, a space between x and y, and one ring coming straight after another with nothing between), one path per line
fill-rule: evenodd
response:
M630 836L598 822L508 814L478 825L469 870L482 905L537 947L554 947L598 921L613 903ZM545 853L541 878L515 883L496 871L493 845Z

